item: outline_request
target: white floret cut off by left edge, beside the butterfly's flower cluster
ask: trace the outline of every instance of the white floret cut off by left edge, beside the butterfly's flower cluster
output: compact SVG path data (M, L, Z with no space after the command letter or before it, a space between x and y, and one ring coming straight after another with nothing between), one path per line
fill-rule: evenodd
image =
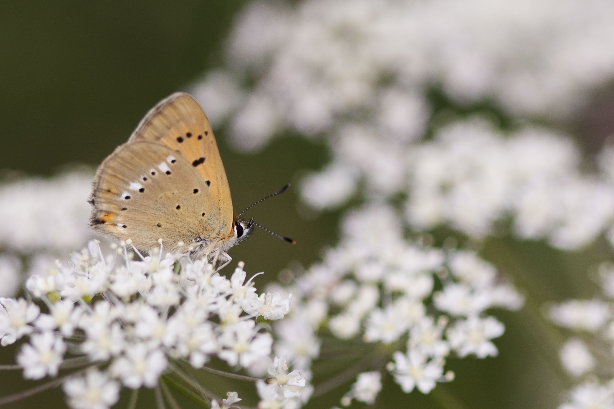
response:
M0 298L0 335L2 346L14 343L23 335L30 334L29 323L39 316L40 308L25 299Z

